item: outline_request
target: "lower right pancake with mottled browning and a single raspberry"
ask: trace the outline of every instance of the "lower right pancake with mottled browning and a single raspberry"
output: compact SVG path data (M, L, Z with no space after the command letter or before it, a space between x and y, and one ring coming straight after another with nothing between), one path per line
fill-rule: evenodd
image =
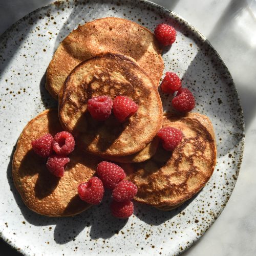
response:
M172 152L159 146L148 161L124 166L127 179L138 186L135 200L162 210L180 206L203 188L216 165L215 135L210 120L199 113L164 116L163 127L183 133Z

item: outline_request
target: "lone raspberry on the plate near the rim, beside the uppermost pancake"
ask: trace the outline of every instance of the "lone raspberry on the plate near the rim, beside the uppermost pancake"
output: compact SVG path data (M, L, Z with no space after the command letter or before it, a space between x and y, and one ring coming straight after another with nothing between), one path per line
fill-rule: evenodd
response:
M155 28L155 36L163 46L172 45L176 39L176 30L172 26L161 23Z

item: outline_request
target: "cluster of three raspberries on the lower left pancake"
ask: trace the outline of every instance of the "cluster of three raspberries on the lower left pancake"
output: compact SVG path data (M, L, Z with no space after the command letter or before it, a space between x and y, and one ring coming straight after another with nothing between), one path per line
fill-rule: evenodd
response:
M75 148L75 139L68 132L57 133L54 137L45 134L32 141L32 148L40 157L48 158L46 166L56 177L62 177L70 159L67 157Z

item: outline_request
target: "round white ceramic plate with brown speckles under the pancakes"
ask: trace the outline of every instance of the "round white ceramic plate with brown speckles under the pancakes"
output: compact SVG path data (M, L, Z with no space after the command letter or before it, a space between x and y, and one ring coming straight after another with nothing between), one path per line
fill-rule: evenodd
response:
M195 112L207 115L216 132L218 161L201 192L172 211L135 204L134 216L109 213L109 198L73 218L35 214L12 181L15 144L27 122L56 106L44 88L45 72L59 42L79 24L106 16L127 18L151 31L161 22L177 30L165 48L165 71L182 77L195 95ZM209 41L174 12L146 1L65 1L25 16L0 38L0 124L2 238L25 255L179 254L195 243L225 207L242 161L244 119L239 97L224 62ZM170 99L163 97L169 108Z

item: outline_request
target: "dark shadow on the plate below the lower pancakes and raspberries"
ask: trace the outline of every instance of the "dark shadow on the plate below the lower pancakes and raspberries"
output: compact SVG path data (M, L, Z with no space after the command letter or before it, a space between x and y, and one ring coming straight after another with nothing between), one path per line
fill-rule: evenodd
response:
M13 148L7 170L7 178L14 199L22 212L22 215L30 224L35 226L56 225L53 235L56 243L65 244L72 240L75 241L78 234L84 229L83 236L89 236L93 240L99 238L108 239L115 234L118 234L118 232L125 226L127 220L116 219L112 217L110 213L110 191L106 191L106 195L100 205L92 206L88 210L74 217L53 218L42 216L31 211L22 201L22 198L18 194L13 183L11 172L14 152L15 147ZM166 220L179 214L186 206L187 204L184 204L184 206L180 206L173 211L160 211L150 206L135 203L135 216L148 224L160 225ZM146 214L146 212L150 212L150 214ZM102 223L104 223L104 225L102 225Z

